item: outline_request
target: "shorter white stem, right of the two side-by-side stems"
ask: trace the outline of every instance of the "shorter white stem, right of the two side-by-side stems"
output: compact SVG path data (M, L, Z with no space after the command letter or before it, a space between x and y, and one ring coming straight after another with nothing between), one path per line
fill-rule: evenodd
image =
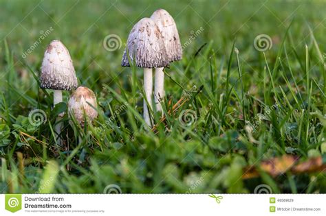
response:
M155 87L154 87L154 98L156 111L162 112L162 104L161 101L164 98L164 67L157 67L155 69ZM163 112L162 112L163 116Z

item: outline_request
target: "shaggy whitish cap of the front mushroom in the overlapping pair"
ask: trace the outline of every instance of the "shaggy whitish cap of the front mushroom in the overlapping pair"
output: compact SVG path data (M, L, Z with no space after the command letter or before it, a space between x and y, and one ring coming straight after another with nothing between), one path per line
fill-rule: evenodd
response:
M166 67L169 64L160 29L149 18L143 18L133 26L128 36L127 49L137 67ZM124 50L121 66L129 65L127 50Z

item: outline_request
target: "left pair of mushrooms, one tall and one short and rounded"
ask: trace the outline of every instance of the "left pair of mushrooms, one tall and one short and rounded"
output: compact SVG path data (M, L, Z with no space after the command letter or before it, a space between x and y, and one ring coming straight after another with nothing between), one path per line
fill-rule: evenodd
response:
M63 101L62 91L72 91L78 82L72 58L69 51L59 40L53 40L44 53L41 67L41 88L54 90L54 106ZM74 115L76 121L84 127L85 115L89 121L97 117L96 96L89 88L79 86L70 96L68 102L69 115ZM85 115L84 115L85 114ZM56 134L61 133L62 115L59 115L55 125Z

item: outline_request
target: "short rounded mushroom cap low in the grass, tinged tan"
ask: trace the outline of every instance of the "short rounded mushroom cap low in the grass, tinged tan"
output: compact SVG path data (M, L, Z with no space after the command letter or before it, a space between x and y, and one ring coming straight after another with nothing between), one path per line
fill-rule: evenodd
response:
M96 108L97 103L94 92L83 86L79 86L68 101L69 115L74 115L82 127L85 124L84 113L91 123L98 116Z

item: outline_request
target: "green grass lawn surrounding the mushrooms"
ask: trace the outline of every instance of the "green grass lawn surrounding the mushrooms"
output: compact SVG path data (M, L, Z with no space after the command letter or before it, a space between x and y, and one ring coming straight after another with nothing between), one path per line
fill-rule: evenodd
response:
M325 158L323 1L38 3L1 1L1 193L103 193L110 184L122 193L253 193L260 184L274 193L326 192L320 171L241 178L245 167L284 154ZM182 45L190 41L165 69L164 112L188 100L151 132L143 126L142 70L120 60L133 24L157 8L174 16ZM120 36L120 49L103 48L108 34ZM260 34L272 38L265 52L253 45ZM52 91L39 88L53 39L69 49L79 84L96 93L99 116L88 129L69 125L66 103L53 109ZM30 123L35 109L45 123ZM58 147L53 128L62 110Z

